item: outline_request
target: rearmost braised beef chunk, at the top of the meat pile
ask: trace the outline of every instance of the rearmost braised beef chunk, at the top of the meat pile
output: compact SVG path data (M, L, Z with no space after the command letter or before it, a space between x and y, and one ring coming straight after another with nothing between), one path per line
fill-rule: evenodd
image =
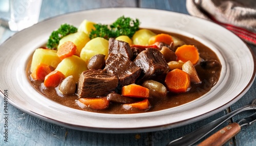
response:
M123 56L133 58L133 52L130 44L124 41L116 40L114 38L109 39L109 54L122 54Z

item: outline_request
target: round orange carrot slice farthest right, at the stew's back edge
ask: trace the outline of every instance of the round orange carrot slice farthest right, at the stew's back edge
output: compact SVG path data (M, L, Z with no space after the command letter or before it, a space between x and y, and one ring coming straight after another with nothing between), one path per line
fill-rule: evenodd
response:
M197 64L199 60L199 53L194 45L184 44L177 48L175 54L177 60L181 60L182 62L191 61L193 65Z

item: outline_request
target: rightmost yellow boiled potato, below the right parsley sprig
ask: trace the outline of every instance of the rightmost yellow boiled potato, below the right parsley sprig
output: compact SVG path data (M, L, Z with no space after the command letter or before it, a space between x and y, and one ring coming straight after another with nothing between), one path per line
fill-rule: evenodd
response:
M133 35L133 44L148 45L148 40L155 35L155 33L147 29L138 30Z

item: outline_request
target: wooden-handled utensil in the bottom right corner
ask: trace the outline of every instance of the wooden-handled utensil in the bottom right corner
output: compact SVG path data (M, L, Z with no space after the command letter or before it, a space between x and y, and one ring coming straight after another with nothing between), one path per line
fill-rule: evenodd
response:
M256 113L241 119L238 123L232 123L223 129L219 130L215 134L211 135L204 141L198 144L198 146L202 145L223 145L225 144L230 138L235 136L241 130L243 126L249 126L256 121Z

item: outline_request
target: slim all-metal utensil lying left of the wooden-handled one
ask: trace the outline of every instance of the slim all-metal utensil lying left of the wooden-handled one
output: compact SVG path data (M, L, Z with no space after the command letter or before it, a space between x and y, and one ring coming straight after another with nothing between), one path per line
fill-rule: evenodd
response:
M251 104L241 107L237 110L234 110L234 111L232 111L214 121L211 121L210 123L206 124L205 126L202 126L201 128L199 128L191 133L188 133L187 135L185 135L183 137L180 137L176 140L169 142L167 145L168 146L170 146L170 145L186 145L186 146L192 145L192 144L196 143L198 140L200 140L201 138L203 138L205 135L210 133L212 130L216 129L218 126L223 124L229 118L233 117L234 115L236 115L242 111L251 110L251 109L256 109L256 99L254 99Z

